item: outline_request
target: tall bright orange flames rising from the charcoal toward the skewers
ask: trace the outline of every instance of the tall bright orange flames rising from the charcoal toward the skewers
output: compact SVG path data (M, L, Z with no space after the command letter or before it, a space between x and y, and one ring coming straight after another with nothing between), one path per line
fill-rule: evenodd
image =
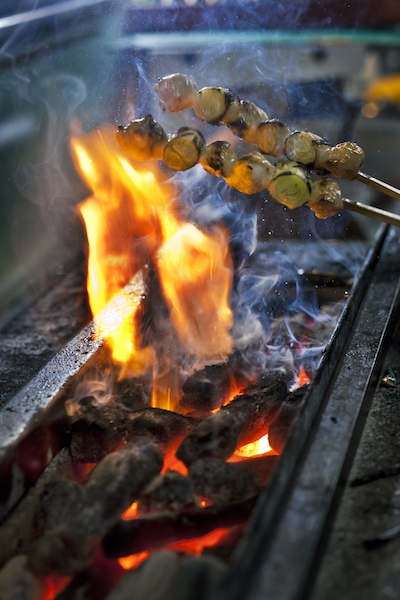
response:
M138 168L121 151L113 128L74 136L71 149L79 174L92 190L79 210L89 243L88 293L97 332L131 375L154 365L152 405L171 410L176 384L172 376L165 377L165 368L157 368L160 359L154 351L141 347L137 327L146 265L158 270L182 348L195 360L223 358L232 350L228 236L219 227L205 233L185 222L174 188L160 174ZM110 301L117 315L112 323L102 316ZM164 356L161 362L166 361Z

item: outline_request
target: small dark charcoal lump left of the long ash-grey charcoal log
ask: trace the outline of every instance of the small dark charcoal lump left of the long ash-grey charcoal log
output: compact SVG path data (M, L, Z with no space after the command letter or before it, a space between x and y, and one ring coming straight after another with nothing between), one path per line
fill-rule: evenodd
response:
M47 483L38 498L33 516L32 539L59 525L72 502L77 503L83 494L79 483L68 479L53 479Z

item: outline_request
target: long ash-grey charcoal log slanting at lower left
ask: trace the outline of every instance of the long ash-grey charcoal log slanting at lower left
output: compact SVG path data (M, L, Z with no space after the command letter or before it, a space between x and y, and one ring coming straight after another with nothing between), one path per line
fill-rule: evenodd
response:
M91 472L82 497L70 504L63 522L33 544L32 571L70 575L87 569L102 537L162 464L158 448L146 439L106 456Z

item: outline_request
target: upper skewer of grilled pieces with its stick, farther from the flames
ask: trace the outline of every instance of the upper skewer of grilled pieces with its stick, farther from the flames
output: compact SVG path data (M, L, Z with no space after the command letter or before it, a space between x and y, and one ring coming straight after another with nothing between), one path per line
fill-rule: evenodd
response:
M360 171L365 153L354 142L332 146L327 140L309 131L290 132L289 127L253 102L240 100L237 94L223 87L197 89L182 73L163 77L155 86L160 105L170 112L193 107L198 117L213 125L226 125L238 137L255 144L264 154L286 155L315 170L326 171L339 179L357 179L400 200L400 190Z

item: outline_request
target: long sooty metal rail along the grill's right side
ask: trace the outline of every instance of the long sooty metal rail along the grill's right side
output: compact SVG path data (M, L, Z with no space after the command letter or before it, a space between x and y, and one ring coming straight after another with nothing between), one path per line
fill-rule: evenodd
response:
M380 251L382 241L366 263L321 361L307 409L256 506L224 599L308 596L399 313L398 232L389 231Z

